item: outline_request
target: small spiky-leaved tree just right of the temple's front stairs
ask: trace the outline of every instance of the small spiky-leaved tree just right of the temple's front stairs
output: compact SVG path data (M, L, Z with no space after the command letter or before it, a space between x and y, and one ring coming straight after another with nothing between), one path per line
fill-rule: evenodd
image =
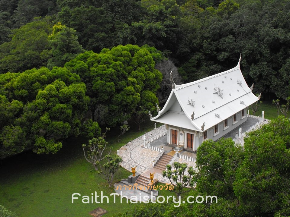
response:
M176 193L177 197L190 191L195 184L195 171L193 167L188 167L186 163L173 162L173 170L171 165L166 165L166 171L162 171L162 176L169 178L170 183L174 185L172 191ZM184 190L188 186L189 188Z

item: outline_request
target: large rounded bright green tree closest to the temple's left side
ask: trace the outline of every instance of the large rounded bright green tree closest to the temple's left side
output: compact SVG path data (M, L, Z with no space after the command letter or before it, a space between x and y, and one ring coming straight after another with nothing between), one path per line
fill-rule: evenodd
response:
M86 84L92 120L115 126L130 119L135 111L154 109L162 80L154 66L161 59L160 52L152 47L120 45L99 54L85 52L65 67ZM143 95L153 102L142 100Z

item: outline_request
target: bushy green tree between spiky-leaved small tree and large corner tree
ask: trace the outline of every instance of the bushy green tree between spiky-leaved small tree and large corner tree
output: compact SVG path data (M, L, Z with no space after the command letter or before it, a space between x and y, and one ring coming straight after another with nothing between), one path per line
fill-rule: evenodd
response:
M243 157L242 146L236 145L231 138L221 138L216 142L205 140L201 143L196 155L198 192L236 203L233 182Z

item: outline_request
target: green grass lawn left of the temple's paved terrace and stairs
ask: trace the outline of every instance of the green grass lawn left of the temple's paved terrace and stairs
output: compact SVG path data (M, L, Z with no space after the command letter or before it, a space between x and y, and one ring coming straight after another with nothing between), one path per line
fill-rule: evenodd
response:
M159 126L159 125L158 125ZM152 121L143 124L140 132L133 125L117 143L118 128L111 129L107 141L113 147L113 152L128 141L143 135L154 128ZM109 137L110 136L110 137ZM69 138L63 143L63 148L55 155L36 155L31 152L14 156L3 162L0 168L0 203L19 217L29 216L90 216L89 211L101 207L110 216L118 212L132 209L136 204L113 203L113 196L109 203L84 204L81 199L71 201L72 193L81 196L97 195L109 196L114 188L108 187L104 179L94 172L93 167L85 161L81 144L84 138ZM130 172L121 168L115 175L115 181L126 178ZM119 198L119 197L118 197Z

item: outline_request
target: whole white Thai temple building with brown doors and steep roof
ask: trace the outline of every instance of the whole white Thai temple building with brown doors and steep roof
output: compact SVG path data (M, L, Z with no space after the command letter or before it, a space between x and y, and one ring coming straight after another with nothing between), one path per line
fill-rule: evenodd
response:
M247 120L247 107L259 100L235 68L176 85L151 121L166 124L167 143L195 151L206 139L218 140ZM159 110L159 109L158 109Z

